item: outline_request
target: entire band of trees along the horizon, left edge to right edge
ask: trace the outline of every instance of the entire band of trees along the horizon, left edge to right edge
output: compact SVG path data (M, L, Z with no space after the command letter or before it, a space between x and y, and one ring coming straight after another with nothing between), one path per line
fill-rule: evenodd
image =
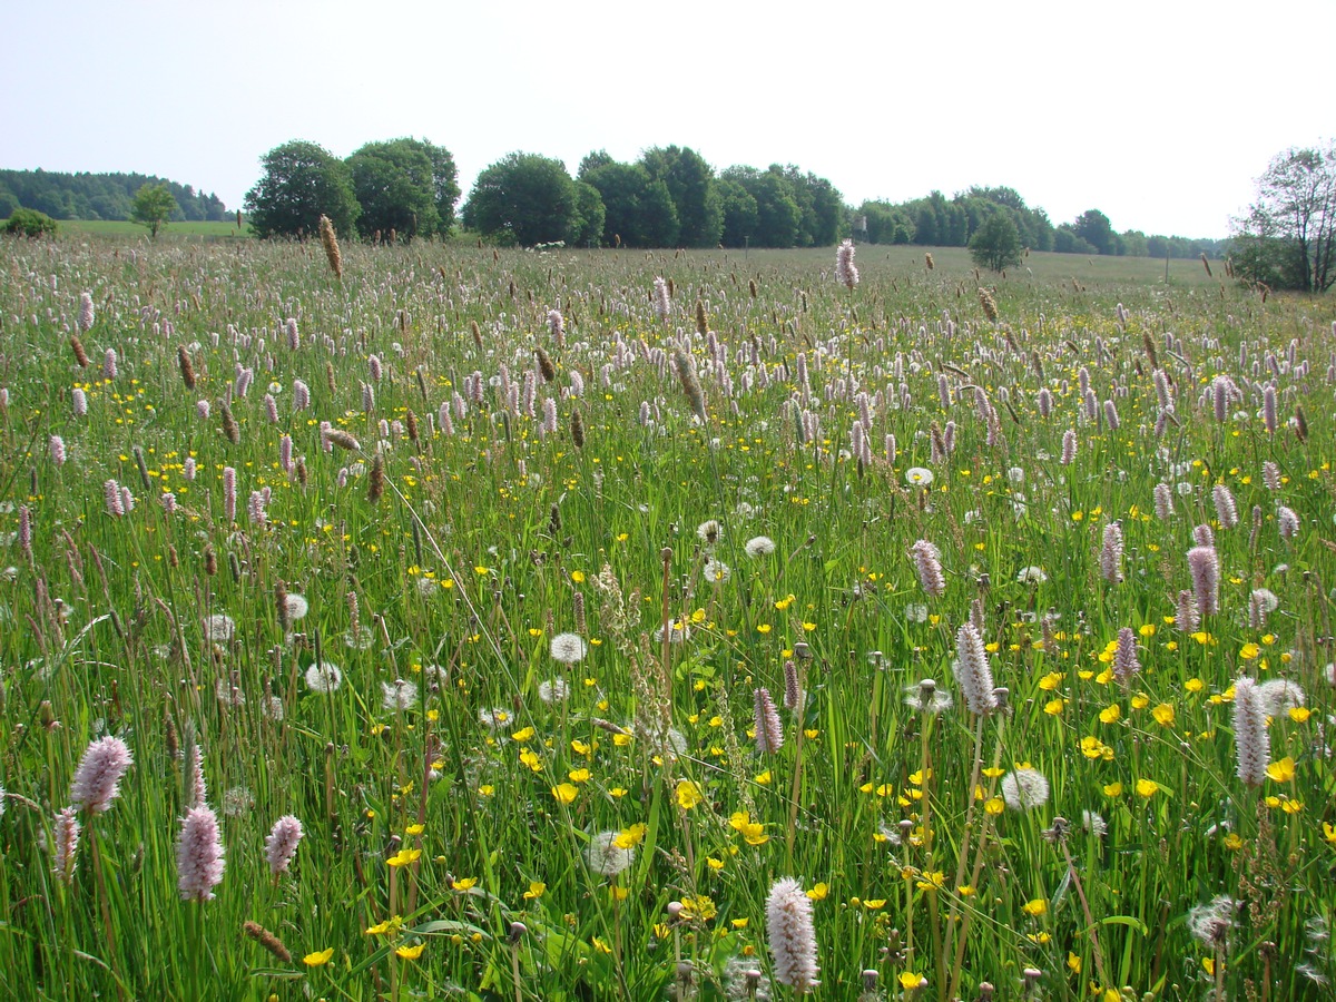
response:
M370 240L448 236L460 200L454 158L425 139L366 143L346 159L293 140L270 150L246 194L259 236L310 236L322 215L341 234ZM150 198L151 196L151 198ZM52 219L134 219L154 234L166 222L223 220L214 194L142 174L0 170L0 219L35 219L11 231L47 232ZM11 219L13 222L13 219ZM633 163L591 152L570 176L561 160L516 152L486 167L458 222L498 243L584 247L820 247L867 243L970 247L989 267L1023 248L1152 258L1224 258L1230 274L1271 289L1336 285L1336 144L1291 148L1257 179L1257 200L1232 222L1232 238L1118 232L1098 208L1054 224L1009 187L941 191L892 203L846 206L826 178L794 164L716 172L689 147L653 147Z

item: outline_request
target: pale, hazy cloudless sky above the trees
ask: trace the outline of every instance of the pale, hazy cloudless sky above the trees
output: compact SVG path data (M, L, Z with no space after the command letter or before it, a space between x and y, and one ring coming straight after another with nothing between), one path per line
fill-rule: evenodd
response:
M411 135L465 198L509 152L676 144L850 204L1009 186L1054 223L1225 236L1272 156L1336 135L1333 0L9 0L0 25L0 167L230 210L290 139Z

